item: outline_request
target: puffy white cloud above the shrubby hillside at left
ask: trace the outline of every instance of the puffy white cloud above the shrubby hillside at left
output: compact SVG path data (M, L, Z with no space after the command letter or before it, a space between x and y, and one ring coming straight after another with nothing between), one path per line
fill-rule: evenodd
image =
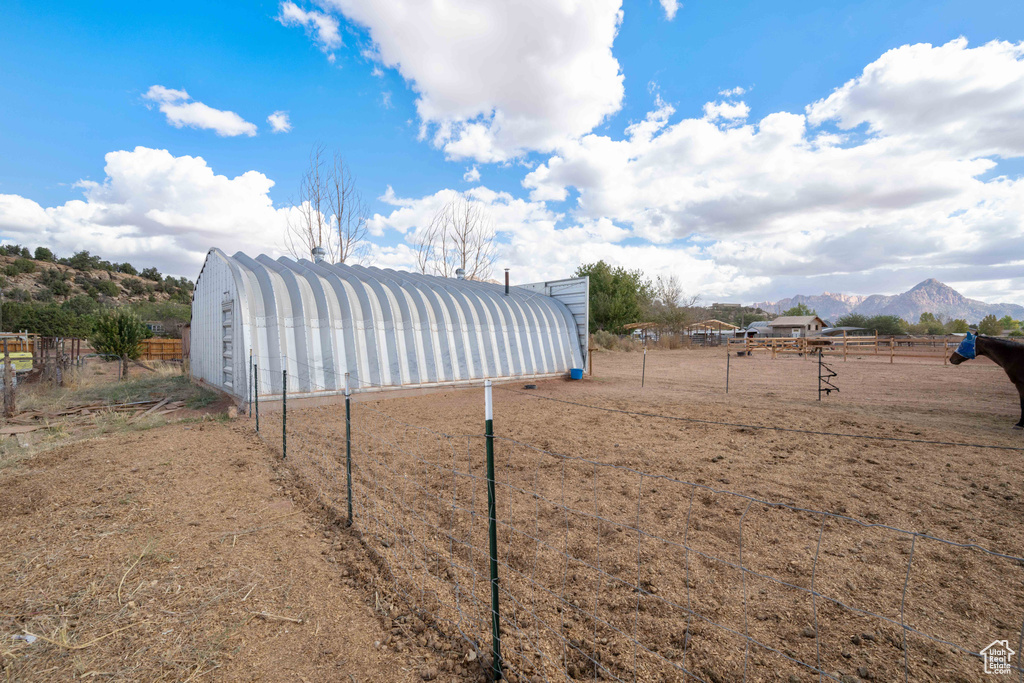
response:
M279 253L292 209L273 206L273 181L262 173L228 178L201 157L147 147L112 152L105 160L102 183L80 183L82 200L44 208L0 195L0 233L61 255L87 249L191 279L211 247Z

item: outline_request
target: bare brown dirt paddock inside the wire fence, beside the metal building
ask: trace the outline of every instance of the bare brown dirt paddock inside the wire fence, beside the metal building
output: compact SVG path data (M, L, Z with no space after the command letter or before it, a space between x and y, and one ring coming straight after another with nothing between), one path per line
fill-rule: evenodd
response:
M833 360L820 402L797 356L731 358L726 395L721 349L650 352L643 388L625 352L583 382L497 387L509 677L982 680L971 652L1018 644L1024 618L1018 396L987 360ZM482 390L352 413L382 611L414 605L485 657ZM280 419L263 429L280 450ZM343 409L292 411L288 431L290 466L343 510Z

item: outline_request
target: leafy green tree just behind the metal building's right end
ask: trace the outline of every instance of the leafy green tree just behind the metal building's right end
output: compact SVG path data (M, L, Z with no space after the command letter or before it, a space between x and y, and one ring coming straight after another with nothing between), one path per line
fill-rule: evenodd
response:
M651 284L642 270L611 267L604 261L577 268L575 276L590 276L590 332L623 333L623 326L639 323L652 298Z

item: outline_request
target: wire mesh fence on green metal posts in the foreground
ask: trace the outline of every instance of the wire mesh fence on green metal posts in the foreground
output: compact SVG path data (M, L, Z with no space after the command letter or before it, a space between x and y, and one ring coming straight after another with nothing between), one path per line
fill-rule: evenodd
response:
M481 394L471 434L347 391L344 405L297 411L286 393L250 410L377 559L378 608L460 639L489 678L968 681L995 666L989 641L1024 651L1024 558L495 436L489 382ZM659 430L1024 452L583 408ZM1001 680L1024 680L1018 661Z

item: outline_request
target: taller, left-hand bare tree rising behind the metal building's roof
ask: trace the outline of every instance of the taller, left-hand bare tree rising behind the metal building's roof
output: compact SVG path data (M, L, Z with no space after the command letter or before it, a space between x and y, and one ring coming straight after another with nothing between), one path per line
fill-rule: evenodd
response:
M324 144L313 145L299 181L297 215L288 220L285 241L296 258L322 247L331 263L361 260L367 252L367 206L341 155L329 160Z

